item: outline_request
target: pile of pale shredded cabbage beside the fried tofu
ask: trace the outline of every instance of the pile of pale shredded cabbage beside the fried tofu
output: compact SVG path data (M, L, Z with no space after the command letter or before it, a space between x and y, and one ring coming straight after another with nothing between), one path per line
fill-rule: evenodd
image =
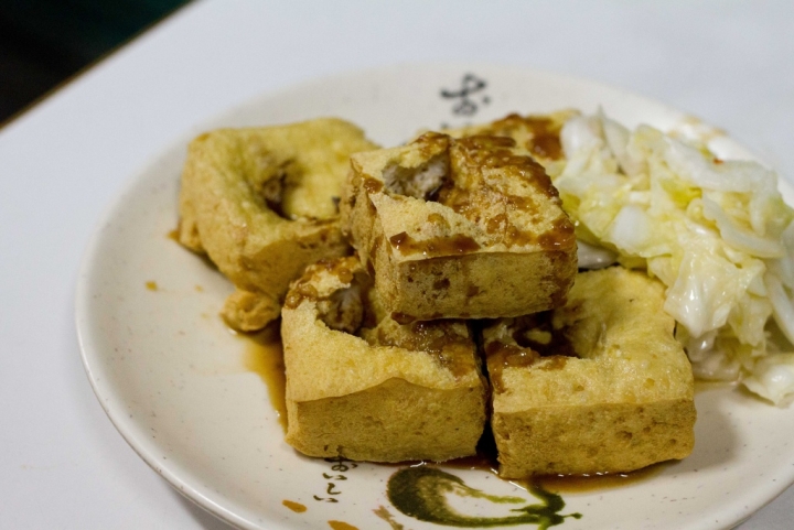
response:
M740 380L775 403L794 393L794 348L770 332L774 320L794 344L794 210L775 173L603 112L571 118L560 142L551 177L580 267L658 278L696 377Z

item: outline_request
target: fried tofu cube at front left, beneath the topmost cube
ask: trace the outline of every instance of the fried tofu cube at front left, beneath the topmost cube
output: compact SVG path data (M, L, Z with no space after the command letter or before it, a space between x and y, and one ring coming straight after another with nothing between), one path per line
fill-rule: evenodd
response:
M355 257L307 269L285 303L287 443L309 456L442 462L473 455L487 382L461 321L382 317Z

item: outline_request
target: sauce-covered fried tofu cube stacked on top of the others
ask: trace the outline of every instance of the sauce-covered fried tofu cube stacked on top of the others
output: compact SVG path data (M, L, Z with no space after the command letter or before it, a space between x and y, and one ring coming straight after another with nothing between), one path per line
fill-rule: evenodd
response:
M527 154L506 137L427 133L351 158L343 224L394 318L518 316L565 303L573 226Z

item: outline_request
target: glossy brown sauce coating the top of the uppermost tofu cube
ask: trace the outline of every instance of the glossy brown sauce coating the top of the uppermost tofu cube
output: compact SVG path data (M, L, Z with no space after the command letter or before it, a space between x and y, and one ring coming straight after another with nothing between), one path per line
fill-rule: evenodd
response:
M543 138L548 145L554 143L551 138L559 142L559 131L550 123L544 126L546 132L530 137ZM411 144L425 163L410 167L394 163L384 169L384 181L369 175L360 181L368 194L386 192L447 206L482 231L478 239L473 234L417 238L416 234L403 231L388 239L394 250L403 256L421 253L433 258L476 252L498 244L543 250L576 245L570 219L561 209L555 210L555 205L560 205L557 190L544 166L528 155L532 147L519 148L509 136L486 132L461 139L428 132ZM428 218L429 224L449 228L443 216L434 215L437 218Z

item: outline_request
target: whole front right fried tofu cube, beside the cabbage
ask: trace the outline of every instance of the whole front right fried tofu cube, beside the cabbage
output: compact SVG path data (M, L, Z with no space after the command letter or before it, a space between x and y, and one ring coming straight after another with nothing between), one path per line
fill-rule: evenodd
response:
M664 288L620 267L577 277L565 307L483 331L500 475L630 472L694 446L691 366Z

